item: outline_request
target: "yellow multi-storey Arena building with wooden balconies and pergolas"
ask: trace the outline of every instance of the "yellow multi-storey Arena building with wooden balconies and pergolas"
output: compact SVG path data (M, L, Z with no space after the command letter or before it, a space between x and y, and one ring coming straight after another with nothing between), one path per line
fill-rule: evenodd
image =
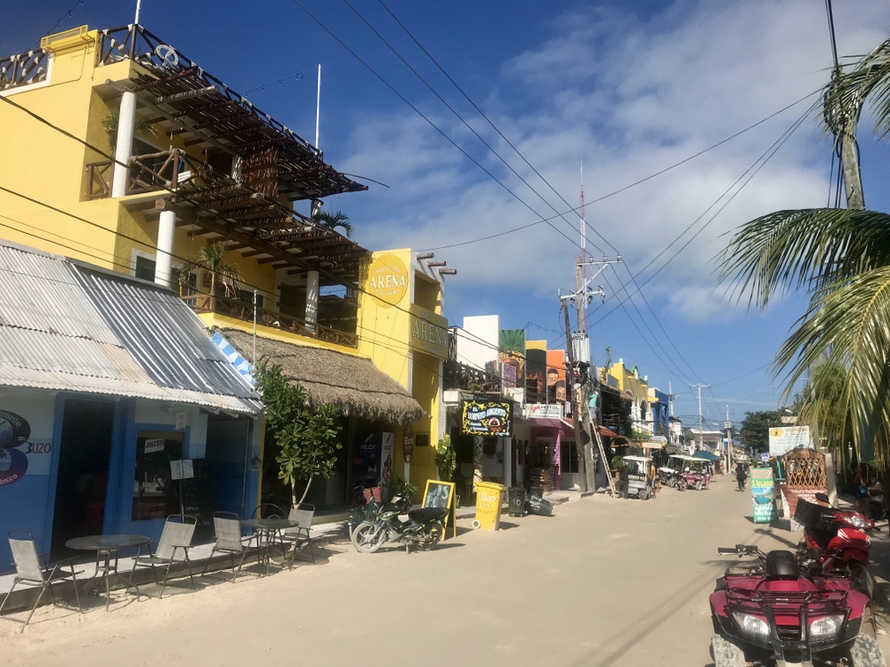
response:
M323 198L366 186L141 26L47 36L40 49L0 59L0 72L0 237L169 286L206 325L256 332L260 348L320 350L322 365L339 359L323 355L344 355L335 366L360 368L355 377L293 377L312 384L312 400L344 401L351 443L369 429L401 438L413 422L433 449L444 355L425 346L447 329L441 276L395 251L406 291L375 293L389 288L375 281L371 253L312 219ZM213 247L220 256L202 259ZM226 264L238 283L222 280ZM234 347L262 356L243 335ZM397 386L361 365L368 359ZM378 389L353 387L357 377ZM401 440L393 445L401 456ZM420 450L414 479L431 470ZM349 500L351 452L328 504Z

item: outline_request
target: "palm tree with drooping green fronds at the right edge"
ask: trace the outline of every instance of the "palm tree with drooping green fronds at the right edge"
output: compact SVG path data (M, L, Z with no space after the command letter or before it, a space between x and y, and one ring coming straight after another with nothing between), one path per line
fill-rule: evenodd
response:
M848 424L860 456L870 458L874 446L883 462L890 461L890 214L864 210L858 164L850 161L870 97L877 100L876 132L886 136L890 40L852 71L837 69L824 98L822 122L845 161L849 208L778 211L749 221L717 259L718 281L730 283L740 300L747 295L749 308L765 309L791 289L809 295L805 315L774 360L776 374L785 376L783 398L812 369L805 397L810 414L818 418L830 401L837 410L830 435L843 437ZM834 369L839 382L817 378L819 364Z

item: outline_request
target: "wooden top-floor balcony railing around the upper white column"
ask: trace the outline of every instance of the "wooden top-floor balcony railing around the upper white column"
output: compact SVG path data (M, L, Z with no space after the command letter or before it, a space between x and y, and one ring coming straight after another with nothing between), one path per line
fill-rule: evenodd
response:
M191 157L182 149L162 150L158 153L131 157L128 165L126 194L138 195L155 190L177 190L209 181L226 181L228 176L214 176L206 163ZM86 165L86 198L104 199L111 196L111 160Z

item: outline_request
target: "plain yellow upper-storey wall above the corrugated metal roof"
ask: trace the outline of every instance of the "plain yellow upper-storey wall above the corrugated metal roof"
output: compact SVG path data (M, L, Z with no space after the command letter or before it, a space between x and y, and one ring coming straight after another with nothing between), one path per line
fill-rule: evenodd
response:
M131 60L96 67L97 38L94 30L83 37L51 38L48 45L53 57L48 81L2 94L95 149L110 153L109 135L101 121L117 111L120 94L105 82L124 81L142 67ZM145 116L149 112L137 106L137 114ZM86 165L107 157L8 104L0 104L0 127L4 128L0 133L0 155L4 156L0 161L0 185L37 200L30 202L0 191L4 216L0 217L0 237L123 273L134 269L134 249L156 254L157 214L146 220L143 213L130 212L125 205L150 202L165 195L163 190L87 201ZM138 136L164 149L171 143L183 148L178 136L171 138L159 131ZM198 149L190 152L202 157ZM204 243L204 238L189 237L177 229L174 265L194 258ZM263 290L266 303L274 308L274 270L240 253L228 253L227 261L239 267L251 289L255 286Z

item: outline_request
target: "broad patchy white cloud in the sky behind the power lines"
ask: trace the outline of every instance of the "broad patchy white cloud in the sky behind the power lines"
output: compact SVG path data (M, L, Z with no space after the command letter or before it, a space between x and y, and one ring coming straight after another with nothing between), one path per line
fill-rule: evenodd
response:
M872 27L890 23L890 8L844 9L845 21L854 24L845 26L842 52L862 53L882 41L881 30ZM824 8L803 0L681 2L649 20L594 8L555 17L549 35L502 64L489 106L497 109L492 117L500 130L568 204L490 129L479 131L553 208L478 148L456 118L444 111L430 116L449 136L460 137L461 145L473 147L467 149L473 157L545 217L578 205L582 158L591 202L818 90L830 58ZM830 147L819 139L815 112L713 221L720 204L708 209L805 110L805 104L798 105L705 156L589 205L589 226L608 239L604 243L591 231L590 252L617 250L636 274L701 216L640 279L676 255L650 289L669 294L692 320L729 308L713 284L712 259L725 243L723 235L773 210L824 205ZM485 128L475 119L472 124ZM391 186L355 200L360 210L352 219L368 221L360 222L358 231L360 243L369 247L440 247L537 220L409 110L366 117L353 128L350 149L342 165L346 171ZM553 224L569 240L541 223L490 241L442 248L437 256L457 268L461 283L473 285L473 291L550 298L573 283L571 258L579 252L577 217L565 217ZM679 252L695 232L698 236ZM627 282L626 271L619 275Z

